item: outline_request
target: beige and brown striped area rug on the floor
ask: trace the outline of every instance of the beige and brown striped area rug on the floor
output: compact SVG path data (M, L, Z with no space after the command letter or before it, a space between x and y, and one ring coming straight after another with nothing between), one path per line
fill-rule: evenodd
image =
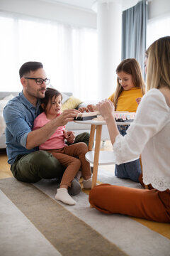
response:
M141 188L102 169L98 183ZM66 206L55 201L56 188L56 180L0 180L1 256L170 255L170 224L99 213L84 190Z

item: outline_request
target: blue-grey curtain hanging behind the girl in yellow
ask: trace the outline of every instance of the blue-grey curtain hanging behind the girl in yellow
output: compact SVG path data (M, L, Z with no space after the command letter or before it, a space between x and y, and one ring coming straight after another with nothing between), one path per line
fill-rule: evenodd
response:
M122 60L135 58L140 63L145 78L145 50L147 38L147 1L142 0L123 11Z

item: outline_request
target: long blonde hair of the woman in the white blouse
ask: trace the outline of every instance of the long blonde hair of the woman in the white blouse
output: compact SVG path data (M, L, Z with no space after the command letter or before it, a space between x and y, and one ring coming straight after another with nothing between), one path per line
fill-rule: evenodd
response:
M159 38L147 49L147 90L170 89L170 36Z

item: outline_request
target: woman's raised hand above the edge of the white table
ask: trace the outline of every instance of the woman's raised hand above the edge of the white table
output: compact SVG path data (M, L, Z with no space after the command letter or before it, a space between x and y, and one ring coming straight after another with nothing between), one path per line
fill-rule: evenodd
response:
M111 117L111 115L113 115L113 112L115 111L115 107L111 100L102 100L101 102L98 102L97 107L98 111L101 113L102 117L105 120Z

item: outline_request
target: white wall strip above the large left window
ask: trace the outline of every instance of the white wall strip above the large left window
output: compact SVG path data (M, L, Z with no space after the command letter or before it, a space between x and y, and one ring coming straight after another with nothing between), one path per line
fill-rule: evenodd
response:
M86 1L86 0L84 0ZM39 0L0 0L0 11L96 28L96 13Z

